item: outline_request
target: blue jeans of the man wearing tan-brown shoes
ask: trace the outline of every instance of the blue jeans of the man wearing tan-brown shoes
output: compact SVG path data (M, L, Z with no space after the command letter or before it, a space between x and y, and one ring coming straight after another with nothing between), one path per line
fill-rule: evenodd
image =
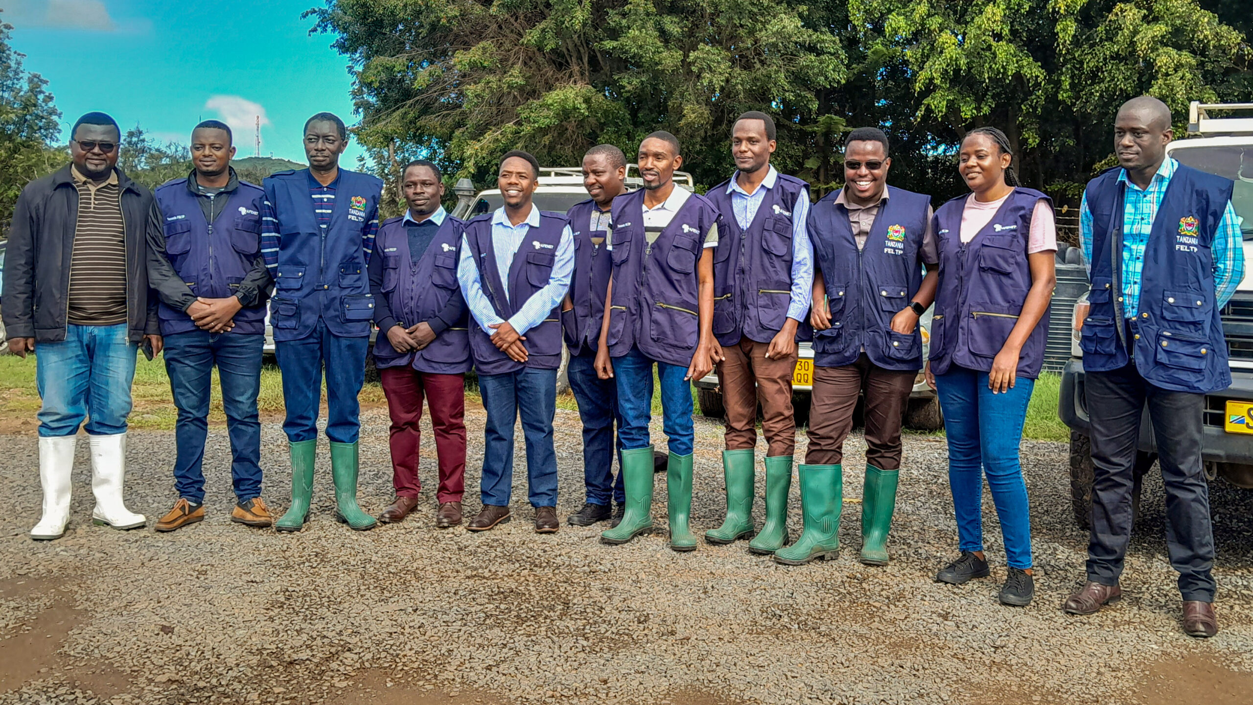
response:
M165 336L165 371L178 406L174 425L174 488L193 504L204 502L204 439L209 433L213 366L222 384L222 410L231 437L231 480L241 503L261 497L261 349L263 335L197 330Z

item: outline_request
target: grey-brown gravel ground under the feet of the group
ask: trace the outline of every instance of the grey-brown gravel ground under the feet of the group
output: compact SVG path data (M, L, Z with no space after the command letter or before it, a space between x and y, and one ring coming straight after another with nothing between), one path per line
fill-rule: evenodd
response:
M477 509L482 410L467 413L466 511ZM391 498L386 411L365 413L361 502ZM654 424L654 438L664 438ZM429 424L427 424L429 432ZM279 423L263 427L266 498L279 512L289 474ZM425 487L435 484L424 437ZM517 433L521 467L521 432ZM890 549L856 561L860 506L845 504L843 554L776 566L744 542L677 554L664 533L609 547L573 528L583 503L578 415L558 411L561 531L531 532L525 477L515 521L485 534L434 528L434 499L400 526L355 533L333 521L328 455L298 534L228 521L229 454L212 429L209 517L172 534L91 527L85 443L71 531L38 521L36 440L0 435L0 704L110 702L1248 702L1253 691L1253 492L1214 483L1222 632L1179 632L1165 561L1160 477L1128 557L1126 597L1100 615L1061 613L1083 580L1086 534L1071 522L1066 449L1022 448L1031 497L1036 601L996 601L1004 553L985 498L991 580L931 581L955 556L942 439L906 438ZM325 444L325 440L323 440ZM720 427L697 421L693 528L723 513ZM173 435L135 432L127 496L149 522L173 502ZM759 445L763 453L764 443ZM804 439L798 439L797 457ZM845 492L861 494L860 438ZM665 523L659 475L654 518ZM758 496L764 490L758 479ZM791 531L801 533L793 482ZM763 503L754 507L758 524Z

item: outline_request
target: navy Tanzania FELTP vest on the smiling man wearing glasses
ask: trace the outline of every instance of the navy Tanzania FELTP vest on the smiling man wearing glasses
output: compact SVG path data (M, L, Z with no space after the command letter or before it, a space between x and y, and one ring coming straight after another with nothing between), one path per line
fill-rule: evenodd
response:
M848 211L836 203L838 197L838 191L828 193L809 211L809 240L831 309L831 327L813 332L813 364L851 365L865 347L880 368L918 370L921 331L895 332L892 316L913 301L922 285L922 236L931 197L887 187L887 201L863 250L857 250Z

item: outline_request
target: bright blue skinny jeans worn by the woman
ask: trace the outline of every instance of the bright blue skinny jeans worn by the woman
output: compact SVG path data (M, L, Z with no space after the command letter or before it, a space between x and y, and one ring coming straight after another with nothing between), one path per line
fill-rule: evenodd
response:
M1001 519L1006 563L1031 567L1031 519L1019 463L1022 423L1035 380L1017 378L1014 389L992 394L987 373L949 368L936 375L936 391L949 437L949 485L957 514L961 551L984 549L984 473Z

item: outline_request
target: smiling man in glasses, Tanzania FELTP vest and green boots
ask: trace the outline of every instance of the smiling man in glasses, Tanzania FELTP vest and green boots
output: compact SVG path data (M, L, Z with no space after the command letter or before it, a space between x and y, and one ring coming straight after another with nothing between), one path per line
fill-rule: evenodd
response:
M935 299L940 256L931 197L887 186L887 135L857 128L845 140L845 187L809 212L813 394L801 465L804 533L774 552L798 566L840 549L843 444L866 399L861 562L887 565L887 531L901 468L901 413L922 369L918 316ZM926 267L926 276L923 276Z

